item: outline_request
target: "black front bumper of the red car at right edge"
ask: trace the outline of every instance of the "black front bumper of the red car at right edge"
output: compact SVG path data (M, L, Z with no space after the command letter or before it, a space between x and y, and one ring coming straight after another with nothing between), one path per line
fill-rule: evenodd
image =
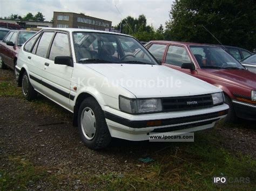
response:
M235 114L238 117L256 121L256 105L237 100L232 100Z

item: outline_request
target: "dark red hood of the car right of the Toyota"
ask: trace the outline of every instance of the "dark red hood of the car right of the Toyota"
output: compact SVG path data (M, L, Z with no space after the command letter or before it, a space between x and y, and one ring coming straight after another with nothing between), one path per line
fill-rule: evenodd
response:
M223 81L242 86L244 88L256 90L256 74L248 70L240 69L211 69L208 70L212 75L218 76Z

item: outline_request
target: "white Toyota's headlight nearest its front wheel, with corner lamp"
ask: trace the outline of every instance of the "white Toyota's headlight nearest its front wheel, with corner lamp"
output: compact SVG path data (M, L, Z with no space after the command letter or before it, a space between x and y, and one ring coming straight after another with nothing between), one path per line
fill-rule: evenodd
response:
M130 99L119 96L119 109L129 114L142 114L162 110L161 99Z

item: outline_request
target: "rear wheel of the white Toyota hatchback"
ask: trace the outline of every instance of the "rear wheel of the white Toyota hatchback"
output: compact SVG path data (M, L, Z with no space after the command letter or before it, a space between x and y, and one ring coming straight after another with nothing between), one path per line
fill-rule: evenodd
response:
M35 100L37 97L37 92L36 90L32 87L30 81L29 81L29 76L26 72L24 72L22 76L22 93L26 100L32 101Z

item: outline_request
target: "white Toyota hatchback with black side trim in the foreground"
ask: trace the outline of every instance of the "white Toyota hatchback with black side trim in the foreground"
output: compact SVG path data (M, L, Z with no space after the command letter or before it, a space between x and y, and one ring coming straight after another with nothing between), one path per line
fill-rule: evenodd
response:
M228 110L220 89L159 65L136 39L118 33L41 30L22 46L16 76L27 100L40 93L73 112L92 149L111 137L212 128Z

